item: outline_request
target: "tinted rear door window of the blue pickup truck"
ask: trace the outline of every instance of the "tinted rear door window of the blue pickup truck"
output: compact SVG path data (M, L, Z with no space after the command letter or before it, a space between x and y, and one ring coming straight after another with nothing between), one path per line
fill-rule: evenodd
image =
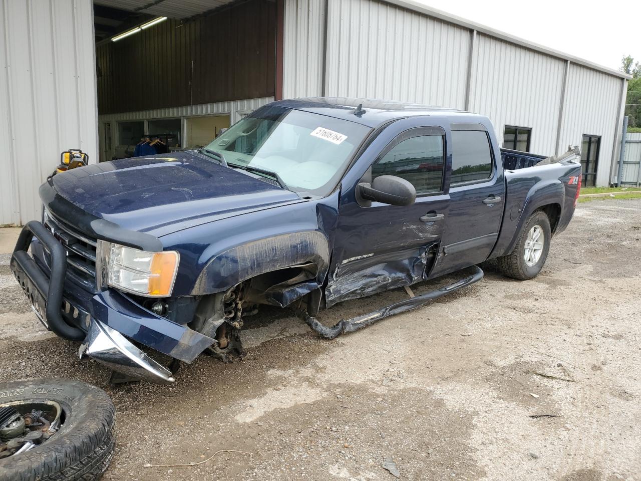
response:
M487 132L453 130L450 185L483 181L490 177L492 177L492 153Z

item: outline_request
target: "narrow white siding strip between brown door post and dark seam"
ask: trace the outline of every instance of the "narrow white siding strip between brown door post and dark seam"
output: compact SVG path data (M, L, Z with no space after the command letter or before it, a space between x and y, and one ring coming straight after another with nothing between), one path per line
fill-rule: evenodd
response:
M325 2L285 0L283 97L322 95Z

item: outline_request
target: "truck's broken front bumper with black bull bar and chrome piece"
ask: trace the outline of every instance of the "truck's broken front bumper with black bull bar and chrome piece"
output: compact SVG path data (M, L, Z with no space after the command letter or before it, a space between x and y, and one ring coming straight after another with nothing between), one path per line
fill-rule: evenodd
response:
M173 381L167 369L127 338L184 362L192 362L215 343L187 326L156 316L119 291L88 292L71 282L65 275L65 249L37 221L22 229L10 267L47 329L65 339L83 341L81 355L114 371L155 382Z

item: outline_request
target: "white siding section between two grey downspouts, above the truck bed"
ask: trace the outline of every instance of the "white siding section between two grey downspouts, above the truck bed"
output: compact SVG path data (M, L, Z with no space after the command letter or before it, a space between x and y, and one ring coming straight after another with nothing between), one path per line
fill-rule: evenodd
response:
M506 125L529 127L530 151L553 155L565 62L485 35L476 43L469 110L490 117L499 142Z

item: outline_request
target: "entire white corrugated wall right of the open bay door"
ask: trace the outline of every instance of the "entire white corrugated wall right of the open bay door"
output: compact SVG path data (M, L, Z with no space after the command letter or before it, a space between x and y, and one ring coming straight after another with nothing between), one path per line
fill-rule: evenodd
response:
M418 5L392 1L398 5L285 0L285 97L318 96L324 85L326 96L470 110L488 115L501 141L506 125L531 128L530 150L545 155L580 145L584 133L601 135L597 183L610 182L624 79L460 19L448 21L442 12L431 16L413 10Z

